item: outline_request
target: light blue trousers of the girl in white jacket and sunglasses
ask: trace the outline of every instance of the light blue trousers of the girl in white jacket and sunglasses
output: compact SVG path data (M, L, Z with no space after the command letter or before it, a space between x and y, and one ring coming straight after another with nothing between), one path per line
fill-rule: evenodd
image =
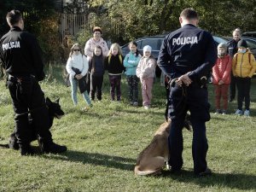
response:
M77 105L78 104L77 92L78 92L79 82L77 79L73 79L71 75L69 76L69 80L71 84L71 97L73 100L73 104ZM82 93L82 96L84 97L84 101L87 103L87 105L90 106L91 105L90 96L88 95L88 92L86 90L84 91L84 93Z

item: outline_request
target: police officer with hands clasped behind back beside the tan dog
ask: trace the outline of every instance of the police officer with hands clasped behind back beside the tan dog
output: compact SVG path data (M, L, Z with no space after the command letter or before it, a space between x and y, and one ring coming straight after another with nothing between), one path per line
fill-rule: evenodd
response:
M172 79L168 137L171 172L183 166L183 122L187 111L193 126L192 154L196 176L211 174L207 167L206 121L210 120L207 74L212 69L217 50L212 35L196 27L199 21L194 9L184 9L179 17L181 28L164 39L158 58L160 69Z

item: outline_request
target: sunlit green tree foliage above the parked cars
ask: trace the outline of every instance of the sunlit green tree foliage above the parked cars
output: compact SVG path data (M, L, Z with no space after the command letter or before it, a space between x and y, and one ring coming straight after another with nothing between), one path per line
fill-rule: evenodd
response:
M125 39L154 35L180 27L178 16L192 7L200 15L200 27L213 34L231 35L255 31L256 1L247 0L96 0L92 6L103 5L110 18L119 18L125 27Z

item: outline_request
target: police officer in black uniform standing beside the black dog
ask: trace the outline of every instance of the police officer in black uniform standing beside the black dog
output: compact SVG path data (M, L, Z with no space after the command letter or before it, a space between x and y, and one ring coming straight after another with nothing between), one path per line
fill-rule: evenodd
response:
M0 40L0 59L8 74L8 88L15 110L16 137L20 154L33 154L28 138L28 113L38 132L38 143L44 153L61 153L66 146L53 143L49 131L49 112L44 92L38 81L44 79L41 49L32 34L24 32L20 11L11 10L6 15L10 31Z

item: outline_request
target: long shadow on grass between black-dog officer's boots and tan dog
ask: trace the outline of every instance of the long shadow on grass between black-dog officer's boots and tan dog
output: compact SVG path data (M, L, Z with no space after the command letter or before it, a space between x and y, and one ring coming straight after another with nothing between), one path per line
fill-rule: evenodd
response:
M67 150L67 153L61 155L44 155L44 158L81 162L83 164L91 164L93 166L107 166L127 171L132 171L136 164L136 160L130 158L73 150Z

